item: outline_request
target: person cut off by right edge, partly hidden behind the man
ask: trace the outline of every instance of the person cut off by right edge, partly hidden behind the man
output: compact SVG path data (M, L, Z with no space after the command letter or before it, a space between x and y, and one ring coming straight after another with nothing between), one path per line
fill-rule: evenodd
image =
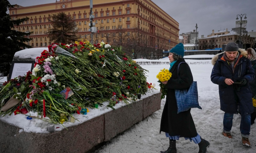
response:
M247 50L248 59L250 59L254 72L256 74L256 52L253 48L248 48ZM253 98L253 113L251 113L251 125L254 124L256 119L256 77L250 82L250 89Z

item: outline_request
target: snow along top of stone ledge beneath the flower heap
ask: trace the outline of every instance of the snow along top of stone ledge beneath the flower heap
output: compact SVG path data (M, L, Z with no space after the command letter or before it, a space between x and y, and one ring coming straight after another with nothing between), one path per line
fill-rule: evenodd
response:
M152 90L151 93L147 93L146 95L141 95L141 99L145 99L148 96L152 96L153 94L157 94L159 93L159 90ZM138 100L139 101L139 100ZM83 114L75 114L74 117L76 117L77 120L75 123L71 123L71 122L64 122L63 125L65 127L70 127L70 126L74 126L74 125L79 125L83 122L86 122L87 120L93 119L97 116L100 116L104 113L107 113L109 111L112 111L111 108L106 108L106 106L108 105L109 102L103 102L103 106L99 106L98 109L89 109L89 112L87 113L87 115L83 115ZM119 102L118 104L116 104L113 108L117 109L120 107L125 106L125 103ZM29 112L26 114L27 116L38 116L38 113L36 112ZM41 119L36 119L33 118L31 120L27 119L24 114L17 114L14 115L14 113L12 113L11 116L6 115L4 117L0 116L0 120L7 122L11 125L15 125L17 127L19 127L20 129L22 129L22 131L24 132L33 132L33 133L49 133L47 131L47 125L49 125L49 122L43 121ZM48 117L46 117L45 119L49 119ZM38 125L40 125L40 127L38 127ZM60 124L60 125L56 125L55 127L57 127L55 130L56 131L60 131L60 130L64 130L64 127ZM20 132L22 132L20 130Z

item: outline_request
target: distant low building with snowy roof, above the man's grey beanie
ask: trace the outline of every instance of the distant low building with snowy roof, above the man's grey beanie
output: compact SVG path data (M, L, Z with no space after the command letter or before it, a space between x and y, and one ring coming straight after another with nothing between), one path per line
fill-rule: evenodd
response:
M217 31L212 30L212 34L207 37L204 35L199 39L199 50L222 48L222 45L227 45L229 42L237 42L239 40L239 34L236 31ZM241 41L244 48L252 47L254 44L254 37L250 37L248 34L241 35Z

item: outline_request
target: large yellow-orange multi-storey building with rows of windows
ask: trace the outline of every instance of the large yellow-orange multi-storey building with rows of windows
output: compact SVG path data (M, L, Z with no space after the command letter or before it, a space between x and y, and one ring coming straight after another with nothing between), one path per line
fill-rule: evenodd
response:
M151 47L155 47L158 42L158 44L161 43L158 49L169 49L178 43L179 23L151 0L105 0L102 2L102 0L93 0L95 15L93 22L99 30L99 36L95 38L96 42L106 41L107 38L103 35L106 31L113 36L108 41L116 42L114 36L119 29L125 31L127 35L136 29L143 36L148 37ZM29 17L28 21L15 26L15 30L33 32L29 36L32 38L29 42L32 47L51 44L47 35L47 30L52 28L49 19L50 15L58 12L65 12L73 17L80 37L90 34L88 31L90 0L56 0L55 3L26 7L16 5L9 11L13 20Z

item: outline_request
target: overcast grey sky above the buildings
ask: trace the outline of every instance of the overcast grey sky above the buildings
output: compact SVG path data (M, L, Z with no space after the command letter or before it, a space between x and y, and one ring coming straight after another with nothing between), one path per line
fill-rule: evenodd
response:
M9 0L11 4L32 6L56 0ZM152 0L180 24L180 34L193 31L199 37L236 27L236 15L247 14L247 31L256 31L256 0ZM103 2L103 0L102 0ZM240 17L239 17L240 20Z

